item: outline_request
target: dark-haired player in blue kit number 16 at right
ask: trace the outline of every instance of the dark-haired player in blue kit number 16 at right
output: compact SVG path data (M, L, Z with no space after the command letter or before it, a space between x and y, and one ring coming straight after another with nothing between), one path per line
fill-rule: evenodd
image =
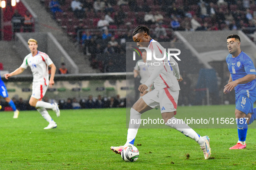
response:
M227 36L227 48L230 54L226 62L230 71L228 84L225 85L224 93L233 89L236 93L236 110L238 142L230 149L246 148L246 133L248 124L255 120L253 103L256 101L256 70L252 59L240 48L240 37L238 35Z

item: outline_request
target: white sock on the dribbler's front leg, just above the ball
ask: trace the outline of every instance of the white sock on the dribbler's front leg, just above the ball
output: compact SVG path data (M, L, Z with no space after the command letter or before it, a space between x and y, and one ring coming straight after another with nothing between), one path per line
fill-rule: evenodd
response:
M134 110L133 108L131 108L130 123L129 123L129 129L127 132L127 141L124 146L134 144L134 140L140 126L140 117L141 117L141 114L136 110Z

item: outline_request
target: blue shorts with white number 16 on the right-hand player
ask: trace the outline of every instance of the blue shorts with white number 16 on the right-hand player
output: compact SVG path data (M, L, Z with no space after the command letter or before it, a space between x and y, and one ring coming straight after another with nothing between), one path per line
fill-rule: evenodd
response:
M254 113L253 103L256 101L256 89L246 90L236 94L236 109L242 111L246 115Z

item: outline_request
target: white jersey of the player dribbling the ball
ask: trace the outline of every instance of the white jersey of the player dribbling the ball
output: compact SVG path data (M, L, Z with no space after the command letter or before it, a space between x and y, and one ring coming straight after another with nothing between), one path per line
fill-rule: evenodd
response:
M178 63L172 57L170 57L170 61L168 61L167 54L164 60L158 61L154 59L153 50L155 50L157 58L163 58L164 55L164 47L162 47L159 42L152 39L148 48L152 52L152 60L147 60L150 77L146 81L145 85L149 87L154 82L156 90L163 88L170 88L172 91L180 90L177 81L177 79L180 79ZM168 63L171 63L169 65L173 65L173 63L175 64L173 66L169 66Z

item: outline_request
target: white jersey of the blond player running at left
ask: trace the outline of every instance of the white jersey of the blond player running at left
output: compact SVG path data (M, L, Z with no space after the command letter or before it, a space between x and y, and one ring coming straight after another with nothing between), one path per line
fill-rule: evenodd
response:
M49 85L49 73L48 66L52 64L52 60L50 57L38 51L36 56L32 56L32 54L28 54L21 65L23 69L26 69L30 66L31 71L33 73L33 83L41 83L43 85Z

